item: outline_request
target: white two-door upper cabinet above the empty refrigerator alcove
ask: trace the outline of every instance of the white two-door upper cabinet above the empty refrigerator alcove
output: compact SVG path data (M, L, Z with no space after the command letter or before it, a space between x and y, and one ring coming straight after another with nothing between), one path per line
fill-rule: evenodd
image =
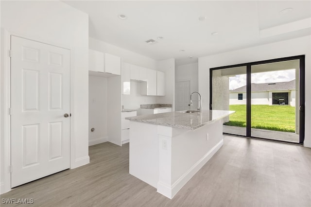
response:
M121 57L89 49L88 69L90 71L121 75Z

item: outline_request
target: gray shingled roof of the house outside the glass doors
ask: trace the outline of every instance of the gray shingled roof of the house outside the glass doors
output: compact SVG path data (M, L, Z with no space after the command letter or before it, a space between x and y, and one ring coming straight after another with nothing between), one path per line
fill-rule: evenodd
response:
M295 88L295 80L288 82L251 84L252 92L269 91L269 90L290 90ZM230 90L230 93L246 92L246 86Z

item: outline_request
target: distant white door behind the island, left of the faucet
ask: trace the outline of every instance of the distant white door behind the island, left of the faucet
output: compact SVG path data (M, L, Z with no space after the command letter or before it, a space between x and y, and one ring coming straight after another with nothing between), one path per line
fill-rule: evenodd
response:
M177 81L176 88L176 111L188 110L190 104L190 81Z

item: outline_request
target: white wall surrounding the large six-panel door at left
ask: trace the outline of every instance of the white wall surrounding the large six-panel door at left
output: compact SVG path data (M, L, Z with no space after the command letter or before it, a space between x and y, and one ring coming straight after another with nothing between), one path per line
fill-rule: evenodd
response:
M75 168L89 163L88 16L60 1L1 1L0 3L1 28L14 35L71 49L70 167ZM5 54L6 52L1 53L1 55ZM3 73L4 67L1 66L1 77ZM8 114L8 109L3 108L6 100L2 96L3 93L1 93L1 114ZM1 131L2 124L1 119ZM9 137L1 137L2 139L9 140ZM1 153L4 147L1 144ZM8 169L8 166L4 166L1 162L1 174L5 173L5 176L9 177L5 169ZM5 182L1 180L1 183L4 182L1 193L2 190L10 190L10 183L6 181L7 178Z

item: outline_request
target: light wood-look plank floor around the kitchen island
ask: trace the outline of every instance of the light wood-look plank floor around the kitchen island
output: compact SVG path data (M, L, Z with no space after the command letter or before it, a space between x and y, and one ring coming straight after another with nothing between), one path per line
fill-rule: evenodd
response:
M128 173L128 144L97 144L89 155L90 164L19 186L1 199L33 198L34 204L21 205L32 207L311 206L311 149L297 145L224 136L224 146L172 200Z

